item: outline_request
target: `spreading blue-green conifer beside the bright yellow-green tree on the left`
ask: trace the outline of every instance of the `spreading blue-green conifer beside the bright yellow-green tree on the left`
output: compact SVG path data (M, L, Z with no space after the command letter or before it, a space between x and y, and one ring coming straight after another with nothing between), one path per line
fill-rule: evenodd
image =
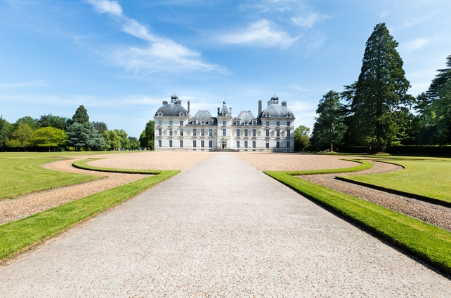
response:
M105 139L100 135L96 128L90 123L73 123L67 127L67 144L75 147L77 151L84 148L88 151L90 148L100 150L105 148Z

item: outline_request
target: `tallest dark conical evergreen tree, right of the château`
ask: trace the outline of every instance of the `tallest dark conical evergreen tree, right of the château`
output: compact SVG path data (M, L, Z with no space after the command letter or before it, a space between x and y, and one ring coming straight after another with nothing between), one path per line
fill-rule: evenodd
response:
M398 133L395 111L400 104L412 103L412 97L406 96L410 83L397 46L385 23L374 27L351 102L353 128L359 128L360 140L368 147L375 145L377 151L385 151Z

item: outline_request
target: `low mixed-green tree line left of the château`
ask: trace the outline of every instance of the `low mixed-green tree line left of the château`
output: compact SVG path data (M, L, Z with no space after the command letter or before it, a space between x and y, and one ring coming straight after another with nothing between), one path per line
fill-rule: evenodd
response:
M148 121L140 138L124 130L108 130L104 122L90 122L81 105L72 118L43 115L33 119L25 116L8 123L0 116L1 151L89 151L154 149L154 121Z

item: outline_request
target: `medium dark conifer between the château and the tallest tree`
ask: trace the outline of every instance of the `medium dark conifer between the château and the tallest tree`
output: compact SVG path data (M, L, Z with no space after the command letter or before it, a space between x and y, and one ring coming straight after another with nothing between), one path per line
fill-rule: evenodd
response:
M316 113L319 116L313 126L313 145L334 151L334 144L341 142L346 131L339 93L330 90L323 95Z

